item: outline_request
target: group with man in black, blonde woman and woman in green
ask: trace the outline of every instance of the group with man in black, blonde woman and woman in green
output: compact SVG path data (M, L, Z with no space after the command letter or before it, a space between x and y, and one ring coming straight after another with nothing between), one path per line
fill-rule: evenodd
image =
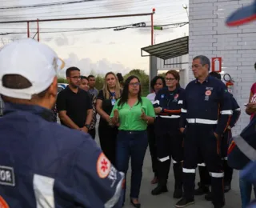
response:
M138 195L148 144L146 128L154 122L154 107L149 99L142 97L138 77L130 76L122 82L120 75L108 72L102 90L95 95L96 90L94 93L86 92L86 78L80 75L80 70L70 67L66 70L69 86L58 94L57 110L63 125L89 134L92 118L96 112L100 115L98 136L102 150L110 162L125 174L131 158L130 202L140 207ZM93 98L90 94L94 94ZM95 134L91 135L95 137ZM124 203L125 193L122 198Z

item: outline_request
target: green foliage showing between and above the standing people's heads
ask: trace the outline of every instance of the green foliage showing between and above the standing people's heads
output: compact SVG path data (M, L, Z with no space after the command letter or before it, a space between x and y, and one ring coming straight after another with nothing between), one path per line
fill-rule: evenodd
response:
M92 72L91 74L94 74L93 70L91 72ZM150 82L149 75L147 75L143 70L134 69L134 70L131 70L128 74L123 76L124 80L126 80L126 78L130 77L131 75L135 75L140 79L142 84L142 96L146 96L147 94L149 94L150 93L149 92L149 82ZM105 75L94 74L94 76L95 76L95 87L96 89L101 90L103 87ZM67 80L66 78L58 78L58 83L67 83Z

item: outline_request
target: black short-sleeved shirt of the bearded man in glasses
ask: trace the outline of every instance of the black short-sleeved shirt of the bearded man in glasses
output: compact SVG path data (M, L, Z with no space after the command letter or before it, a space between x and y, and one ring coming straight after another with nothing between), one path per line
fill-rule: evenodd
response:
M82 128L86 124L87 110L92 109L92 103L90 95L86 90L78 89L78 93L74 93L70 90L69 86L66 86L65 90L62 90L58 94L57 98L57 110L66 110L66 115ZM61 121L62 125L66 126Z

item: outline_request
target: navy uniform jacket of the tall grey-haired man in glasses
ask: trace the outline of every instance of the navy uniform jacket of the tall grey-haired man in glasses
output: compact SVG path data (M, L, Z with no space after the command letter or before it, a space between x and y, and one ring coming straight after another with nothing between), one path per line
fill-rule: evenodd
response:
M202 84L194 80L186 86L180 126L185 127L186 123L216 125L214 131L221 136L230 124L231 109L230 94L222 81L210 76Z

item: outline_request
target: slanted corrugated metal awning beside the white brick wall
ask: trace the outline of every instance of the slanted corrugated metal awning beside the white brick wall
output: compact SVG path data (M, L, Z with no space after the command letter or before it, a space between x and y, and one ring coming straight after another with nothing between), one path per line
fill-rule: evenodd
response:
M149 56L143 55L143 51L150 54L150 56L162 58L163 60L186 55L189 53L189 36L143 47L141 49L142 57Z

